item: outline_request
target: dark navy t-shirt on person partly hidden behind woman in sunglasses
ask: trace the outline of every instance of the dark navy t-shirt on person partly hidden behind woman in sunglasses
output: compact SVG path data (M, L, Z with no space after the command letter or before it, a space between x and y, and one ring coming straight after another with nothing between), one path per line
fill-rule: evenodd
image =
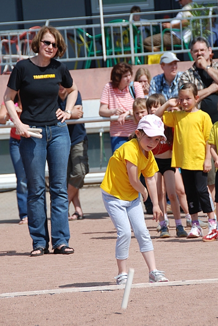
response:
M65 111L67 102L67 97L64 101L60 97L58 97L58 105L62 111ZM78 96L76 103L74 105L82 105L82 98L80 92L78 91ZM71 146L78 144L79 142L87 139L86 129L84 123L76 123L76 124L68 124L68 130L71 139Z

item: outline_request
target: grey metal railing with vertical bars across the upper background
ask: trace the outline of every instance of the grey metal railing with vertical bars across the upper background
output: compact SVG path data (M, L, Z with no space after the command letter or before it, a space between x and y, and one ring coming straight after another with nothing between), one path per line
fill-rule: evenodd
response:
M213 10L217 11L217 7L207 8L212 13ZM204 11L205 8L197 9L199 11ZM196 9L190 9L191 11L196 11ZM158 12L146 12L138 13L143 15L143 17L151 17L151 15L164 15L172 14L176 15L181 10L174 11L158 11ZM117 20L119 17L119 20ZM116 19L116 22L110 23L106 22L104 24L105 37L106 37L106 59L107 66L111 66L118 59L130 61L132 64L142 64L144 63L144 58L152 54L163 53L163 37L162 37L162 23L171 22L174 18L170 19L149 19L146 22L133 22L133 14L129 16L129 21L122 19L124 15L105 15L104 20L108 21L110 19ZM126 14L125 14L126 17ZM218 15L209 16L199 16L199 17L187 17L186 19L190 24L190 31L192 32L192 22L197 20L199 26L202 25L204 19L208 20L208 30L210 31L209 42L212 45L212 50L218 50L218 47L213 47L212 42L212 19L217 18ZM121 18L121 19L120 19ZM94 24L78 24L78 22L86 21L91 19ZM25 26L31 26L31 29L23 30L1 30L0 31L0 66L4 68L3 72L6 73L8 70L13 69L15 63L24 58L28 58L35 55L31 50L31 42L34 35L39 29L36 26L41 25L53 25L55 26L64 36L65 42L67 44L67 51L60 61L65 63L71 63L70 69L82 68L81 62L84 63L85 68L89 68L91 61L96 60L98 66L103 65L103 53L102 53L102 41L101 41L101 29L100 29L100 17L79 17L79 18L66 18L66 19L53 19L53 20L40 20L40 21L25 21L25 22L8 22L0 23L3 28L6 26L16 26L19 24L24 24ZM72 22L72 25L67 25ZM59 25L62 26L59 26ZM33 28L34 27L34 28ZM161 50L154 51L154 46L152 42L152 50L148 51L143 46L143 33L142 27L149 30L151 38L153 38L154 31L153 28L158 28L158 32L161 35ZM172 29L171 29L172 31ZM201 35L203 30L200 30ZM172 33L171 33L172 35ZM171 36L172 37L172 36ZM192 35L191 35L192 37ZM180 23L180 38L182 39L182 25ZM183 42L181 42L181 49L173 49L171 46L171 51L174 53L187 53L189 50L184 47ZM112 62L113 59L113 62Z

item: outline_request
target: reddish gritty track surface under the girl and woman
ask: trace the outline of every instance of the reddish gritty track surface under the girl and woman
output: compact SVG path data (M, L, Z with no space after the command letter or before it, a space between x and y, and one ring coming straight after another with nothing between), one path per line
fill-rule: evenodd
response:
M16 193L0 193L1 293L115 284L116 231L100 189L84 188L81 202L86 219L70 222L75 253L29 257L32 242L27 225L18 225ZM172 219L171 238L159 239L156 223L145 217L157 268L170 281L218 279L218 242L178 239ZM133 283L148 282L134 235L128 266L135 269ZM218 283L134 288L126 311L121 310L123 289L0 298L0 325L218 325L217 293Z

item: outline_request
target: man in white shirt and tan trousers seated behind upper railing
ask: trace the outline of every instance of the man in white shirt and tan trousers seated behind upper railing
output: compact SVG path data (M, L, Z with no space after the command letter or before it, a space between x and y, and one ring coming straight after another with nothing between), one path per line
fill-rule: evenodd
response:
M179 12L175 19L172 20L170 23L163 23L162 24L162 29L179 29L187 27L189 25L189 21L186 20L187 17L191 17L192 14L189 12L189 9L192 8L192 0L175 0L178 1L179 4L183 7L182 8L182 12ZM186 11L185 11L186 10ZM172 34L172 35L171 35ZM185 28L182 30L182 33L179 32L165 32L163 35L163 45L164 46L171 46L171 36L172 36L172 42L173 44L181 44L181 34L182 34L182 38L184 40L185 43L188 43L191 37L191 31L189 28ZM152 35L147 37L146 39L144 39L143 43L144 43L144 47L145 49L147 49L148 51L160 51L161 48L161 38L162 35L161 34L156 34L156 35ZM153 41L153 47L152 47L152 41Z

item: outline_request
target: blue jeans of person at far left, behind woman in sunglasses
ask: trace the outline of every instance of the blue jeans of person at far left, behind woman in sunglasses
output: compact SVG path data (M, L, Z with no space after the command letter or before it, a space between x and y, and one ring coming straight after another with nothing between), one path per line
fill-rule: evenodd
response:
M27 178L24 171L20 150L20 140L10 138L9 148L12 158L12 163L17 177L17 200L20 219L27 217Z

